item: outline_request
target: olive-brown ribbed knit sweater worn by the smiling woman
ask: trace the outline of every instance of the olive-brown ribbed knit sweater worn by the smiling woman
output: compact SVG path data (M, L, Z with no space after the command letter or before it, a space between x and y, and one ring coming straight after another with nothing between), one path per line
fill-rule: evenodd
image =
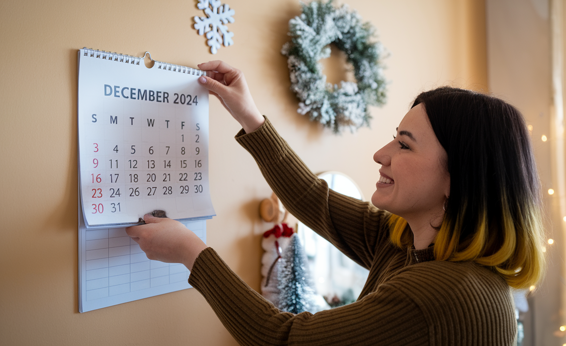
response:
M434 260L389 241L388 213L328 189L268 120L236 136L285 207L370 270L358 300L316 314L276 309L208 247L192 267L195 287L242 345L512 345L513 298L498 274ZM285 169L281 169L285 168Z

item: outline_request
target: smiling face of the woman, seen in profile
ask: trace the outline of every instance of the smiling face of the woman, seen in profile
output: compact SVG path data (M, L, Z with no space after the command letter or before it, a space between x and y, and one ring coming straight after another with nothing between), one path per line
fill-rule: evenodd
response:
M411 108L396 138L374 154L381 164L374 206L411 219L443 211L450 192L447 154L436 139L424 106Z

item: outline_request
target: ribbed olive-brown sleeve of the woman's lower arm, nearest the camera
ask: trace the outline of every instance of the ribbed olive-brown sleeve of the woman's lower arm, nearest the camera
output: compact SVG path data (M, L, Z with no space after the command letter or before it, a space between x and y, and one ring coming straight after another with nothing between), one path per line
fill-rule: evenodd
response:
M353 304L293 315L248 287L211 247L195 260L188 282L241 345L428 345L422 311L393 285Z

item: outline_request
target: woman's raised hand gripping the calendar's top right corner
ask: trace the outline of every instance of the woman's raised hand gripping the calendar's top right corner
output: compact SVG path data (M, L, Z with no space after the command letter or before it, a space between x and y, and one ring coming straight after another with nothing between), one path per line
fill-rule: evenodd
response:
M242 71L220 60L201 63L199 69L207 71L208 75L199 78L200 84L218 97L246 133L263 125L265 119L251 97Z

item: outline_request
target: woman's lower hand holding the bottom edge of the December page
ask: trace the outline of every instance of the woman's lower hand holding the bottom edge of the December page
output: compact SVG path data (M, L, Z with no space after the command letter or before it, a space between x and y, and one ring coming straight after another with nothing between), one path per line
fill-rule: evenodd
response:
M191 270L200 251L207 248L199 237L179 221L144 215L145 225L126 228L149 259L183 263Z

